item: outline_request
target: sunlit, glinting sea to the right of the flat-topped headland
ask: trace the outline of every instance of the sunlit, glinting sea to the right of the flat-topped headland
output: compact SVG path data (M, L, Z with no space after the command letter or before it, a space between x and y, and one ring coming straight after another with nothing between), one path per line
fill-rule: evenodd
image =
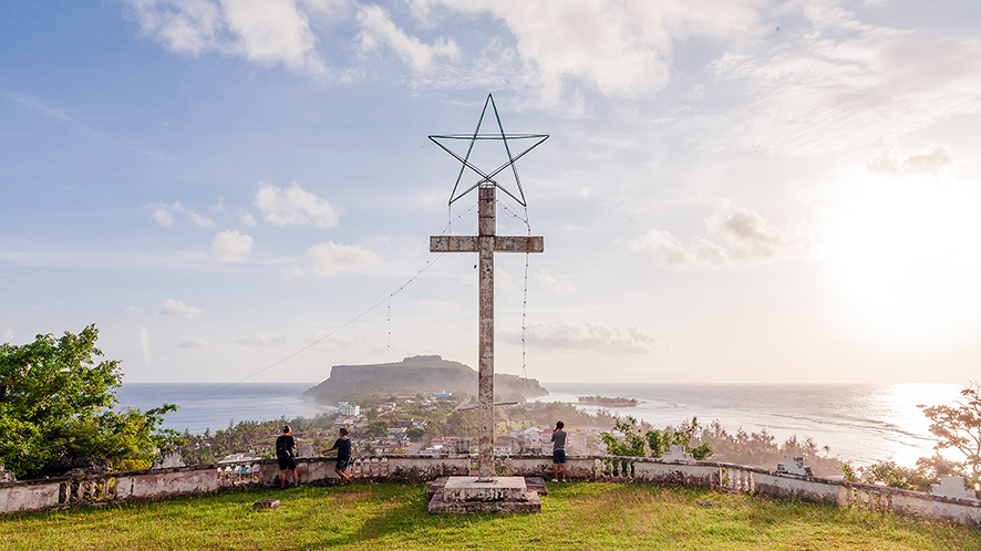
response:
M611 409L644 419L655 427L678 426L698 417L719 420L732 434L765 428L783 443L796 435L810 437L818 449L857 466L895 460L913 466L933 455L936 440L918 404L950 404L962 386L951 384L892 385L732 385L732 384L545 384L544 402L577 402L578 396L622 396L643 401L637 407ZM593 412L596 406L587 406Z

